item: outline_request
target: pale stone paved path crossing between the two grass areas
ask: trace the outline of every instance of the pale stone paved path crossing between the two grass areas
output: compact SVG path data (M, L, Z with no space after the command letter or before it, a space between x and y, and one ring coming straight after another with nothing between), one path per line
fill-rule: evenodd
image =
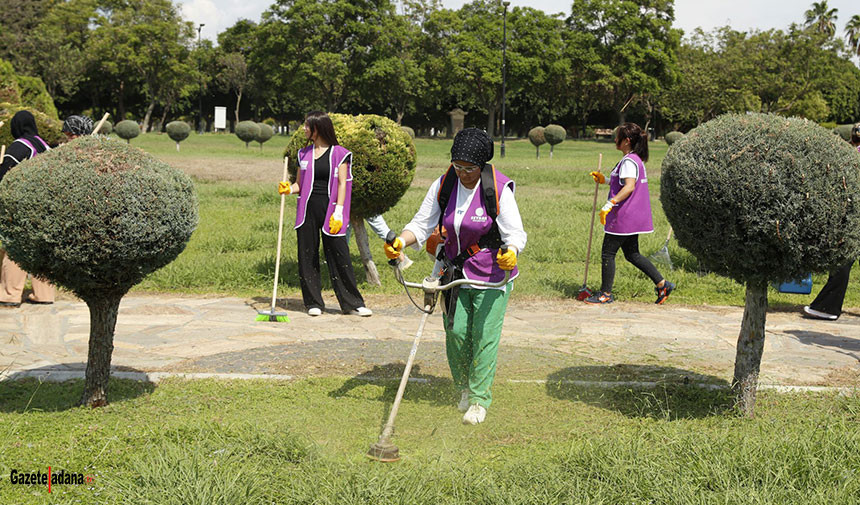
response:
M332 301L333 302L333 301ZM289 300L288 306L296 306ZM239 298L130 296L120 306L113 365L141 371L305 375L395 373L405 361L419 312L403 298L369 297L373 317L329 310L311 318L289 311L290 323L255 322L255 306ZM385 306L388 308L385 308ZM330 306L336 306L331 303ZM576 301L512 301L505 319L500 376L591 379L678 374L731 377L742 308ZM0 372L81 370L89 313L78 301L0 311ZM417 374L447 376L441 316L428 322ZM839 321L768 315L762 382L857 385L860 314Z

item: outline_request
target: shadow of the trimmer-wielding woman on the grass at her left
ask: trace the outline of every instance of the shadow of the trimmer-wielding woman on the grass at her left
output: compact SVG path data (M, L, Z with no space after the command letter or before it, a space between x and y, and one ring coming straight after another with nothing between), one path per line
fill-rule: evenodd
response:
M404 363L374 365L372 369L347 379L343 385L334 391L330 391L328 395L332 398L339 398L347 396L351 390L369 383L383 385L382 394L377 397L377 401L387 404L380 419L379 427L381 429L388 420L388 414L394 403L394 397L397 396L397 388L400 386L400 378L403 376L403 369L405 367ZM403 392L403 402L429 403L434 406L453 406L456 404L458 398L455 398L454 382L451 379L422 374L421 366L418 364L412 366L409 378L419 379L421 382L409 382L406 384L406 390Z

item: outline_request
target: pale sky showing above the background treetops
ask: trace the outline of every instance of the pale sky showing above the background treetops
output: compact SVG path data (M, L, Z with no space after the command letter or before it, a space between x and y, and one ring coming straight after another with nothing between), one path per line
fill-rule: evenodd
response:
M396 0L395 0L396 1ZM218 33L232 26L239 19L259 21L260 15L273 0L177 0L185 19L195 27L203 23L204 39L216 40ZM458 9L464 0L442 0L442 6ZM545 12L570 12L572 0L511 0L511 5L534 7ZM860 14L857 0L829 0L831 8L839 9L837 27L839 34L845 22L854 14ZM690 33L697 27L706 31L718 26L730 25L736 30L751 28L787 28L793 22L803 21L803 13L812 0L675 0L675 26Z

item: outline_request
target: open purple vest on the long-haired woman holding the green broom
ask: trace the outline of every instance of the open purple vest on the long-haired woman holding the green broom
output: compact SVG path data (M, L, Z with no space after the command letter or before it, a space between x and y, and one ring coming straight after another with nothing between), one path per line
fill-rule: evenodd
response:
M346 161L346 195L343 199L343 226L337 234L331 233L328 221L337 206L337 169ZM331 172L328 176L328 209L323 222L323 233L331 236L345 236L349 227L349 207L352 201L352 153L343 146L331 146L329 155ZM314 189L314 146L309 145L299 150L299 201L296 205L296 228L305 223L308 210L308 200Z

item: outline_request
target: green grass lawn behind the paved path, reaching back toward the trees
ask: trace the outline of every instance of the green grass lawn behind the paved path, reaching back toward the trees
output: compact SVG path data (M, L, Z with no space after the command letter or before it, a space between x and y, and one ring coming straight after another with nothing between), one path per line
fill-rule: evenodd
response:
M280 178L280 157L286 137L275 137L260 151L255 144L245 149L233 135L192 135L176 152L166 135L146 134L132 141L168 163L186 169L197 181L200 198L200 226L187 250L166 268L146 279L138 292L180 292L261 296L271 289L274 275L277 233L278 196L275 183ZM448 163L450 140L418 139L418 168L412 187L385 217L389 225L400 230L417 211L430 183ZM603 170L608 172L620 159L620 153L609 142L565 141L555 147L549 158L548 146L535 159L535 148L527 140L507 143L507 156L498 156L497 167L517 183L517 202L529 235L526 251L520 259L523 275L517 281L516 297L574 297L582 285L585 254L591 219L594 183L588 172L596 168L598 155L604 155ZM660 164L666 144L651 144L649 186L654 214L655 233L640 239L646 255L659 250L669 225L660 206ZM602 186L598 205L606 198ZM295 199L288 199L287 227L282 251L281 293L295 296L300 292L296 267L295 234L291 225L295 217ZM596 225L589 267L589 285L600 284L600 247L603 231ZM371 239L377 260L383 259L382 243ZM363 282L362 266L355 242L353 263L363 293L397 293L400 287L380 261L383 285ZM669 252L675 269L659 266L664 275L680 288L672 303L742 305L744 290L739 284L714 274L702 272L696 258L672 241ZM409 272L420 278L431 268L427 255L411 252L418 259ZM652 302L650 281L619 253L614 292L620 300ZM327 274L324 273L324 279ZM816 276L813 294L785 295L770 293L775 306L808 304L823 285L826 276ZM327 279L325 289L328 289ZM855 269L846 298L847 307L860 306L860 270Z

